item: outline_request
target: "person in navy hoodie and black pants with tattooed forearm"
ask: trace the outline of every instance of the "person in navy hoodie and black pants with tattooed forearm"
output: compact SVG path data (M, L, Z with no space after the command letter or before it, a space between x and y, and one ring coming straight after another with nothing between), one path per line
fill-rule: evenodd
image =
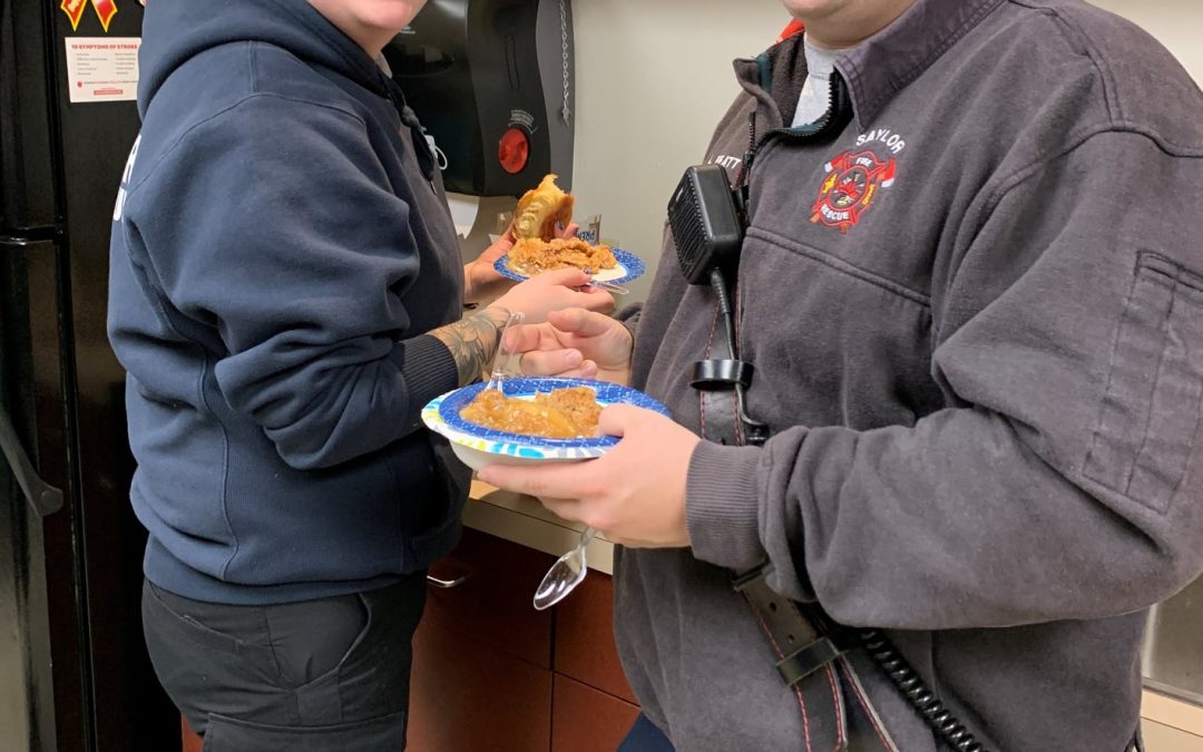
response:
M462 266L374 61L425 0L152 2L114 211L146 641L206 750L399 750L427 564L468 473L420 427L510 312L609 310L576 270ZM464 314L464 303L493 303Z

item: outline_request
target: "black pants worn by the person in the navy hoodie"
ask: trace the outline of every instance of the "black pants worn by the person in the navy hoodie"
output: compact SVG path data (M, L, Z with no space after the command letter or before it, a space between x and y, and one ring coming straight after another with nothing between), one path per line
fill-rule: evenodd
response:
M403 750L426 573L268 606L142 588L147 650L206 752Z

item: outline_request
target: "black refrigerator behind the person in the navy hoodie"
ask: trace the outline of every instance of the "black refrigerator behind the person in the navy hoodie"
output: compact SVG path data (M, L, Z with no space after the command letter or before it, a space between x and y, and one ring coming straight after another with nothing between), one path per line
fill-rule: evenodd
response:
M105 81L128 77L141 26L134 0L0 0L5 752L180 746L142 645L146 533L105 336L109 223L138 130L129 89Z

